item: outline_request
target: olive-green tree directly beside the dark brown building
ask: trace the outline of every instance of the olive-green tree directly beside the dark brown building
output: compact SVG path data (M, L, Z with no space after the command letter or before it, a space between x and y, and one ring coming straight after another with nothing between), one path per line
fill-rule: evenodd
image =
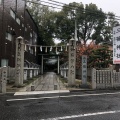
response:
M38 26L41 38L40 44L54 45L55 11L50 10L47 6L40 5L39 2L34 0L31 0L28 9Z

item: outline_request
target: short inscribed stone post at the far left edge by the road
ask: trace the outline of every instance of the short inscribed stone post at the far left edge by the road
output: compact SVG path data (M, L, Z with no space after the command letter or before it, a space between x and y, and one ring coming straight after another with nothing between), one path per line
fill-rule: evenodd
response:
M0 93L6 93L7 67L0 69Z

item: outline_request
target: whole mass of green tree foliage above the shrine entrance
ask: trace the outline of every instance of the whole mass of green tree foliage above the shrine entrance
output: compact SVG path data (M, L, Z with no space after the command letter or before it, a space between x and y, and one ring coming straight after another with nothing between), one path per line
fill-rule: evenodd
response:
M31 3L29 11L39 28L42 45L54 45L54 38L67 43L75 31L75 21L77 39L83 44L88 40L94 40L96 44L111 41L112 29L119 25L113 13L106 15L92 3L69 3L58 12L47 6Z

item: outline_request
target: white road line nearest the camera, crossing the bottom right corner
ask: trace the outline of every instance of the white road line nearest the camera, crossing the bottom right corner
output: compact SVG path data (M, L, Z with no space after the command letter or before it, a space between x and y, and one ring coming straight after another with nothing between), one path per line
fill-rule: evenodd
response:
M120 110L96 112L96 113L87 113L87 114L79 114L79 115L71 115L71 116L55 117L55 118L47 118L47 119L40 119L40 120L66 120L66 119L70 119L70 118L80 118L80 117L105 115L105 114L114 114L114 113L120 113Z

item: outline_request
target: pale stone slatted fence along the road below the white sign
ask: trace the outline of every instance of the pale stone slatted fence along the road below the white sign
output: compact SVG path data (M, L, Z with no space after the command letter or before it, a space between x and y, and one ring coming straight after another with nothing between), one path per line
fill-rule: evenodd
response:
M106 89L106 88L120 87L120 72L115 70L96 70L92 69L92 88Z

